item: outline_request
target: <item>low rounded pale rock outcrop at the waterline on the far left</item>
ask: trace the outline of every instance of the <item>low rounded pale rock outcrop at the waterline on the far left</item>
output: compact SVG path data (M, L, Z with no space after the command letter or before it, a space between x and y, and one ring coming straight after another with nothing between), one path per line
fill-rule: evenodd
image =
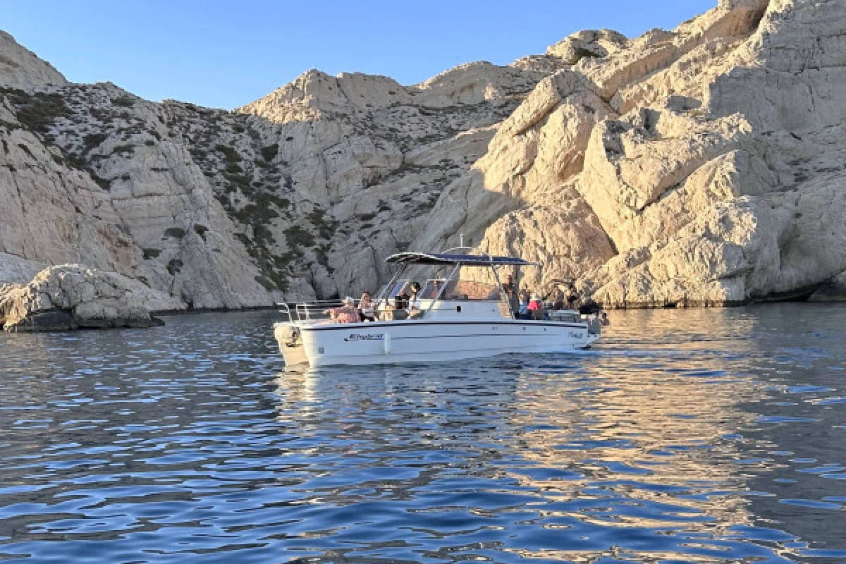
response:
M60 331L161 325L153 311L183 309L178 299L115 272L51 266L32 282L0 286L6 331Z

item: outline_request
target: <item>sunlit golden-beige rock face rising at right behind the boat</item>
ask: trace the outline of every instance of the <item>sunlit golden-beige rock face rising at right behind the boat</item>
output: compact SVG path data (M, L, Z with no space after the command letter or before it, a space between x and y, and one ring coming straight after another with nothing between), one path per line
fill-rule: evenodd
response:
M573 38L605 43L541 81L421 244L465 233L612 307L810 293L846 269L844 33L843 3L746 0Z

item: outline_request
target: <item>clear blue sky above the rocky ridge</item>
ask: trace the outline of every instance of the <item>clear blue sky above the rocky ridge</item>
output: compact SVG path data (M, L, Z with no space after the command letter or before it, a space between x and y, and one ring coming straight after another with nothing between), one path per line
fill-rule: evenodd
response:
M150 100L233 108L309 68L410 85L460 63L542 53L578 30L673 28L716 4L5 0L0 29L74 82L110 80Z

